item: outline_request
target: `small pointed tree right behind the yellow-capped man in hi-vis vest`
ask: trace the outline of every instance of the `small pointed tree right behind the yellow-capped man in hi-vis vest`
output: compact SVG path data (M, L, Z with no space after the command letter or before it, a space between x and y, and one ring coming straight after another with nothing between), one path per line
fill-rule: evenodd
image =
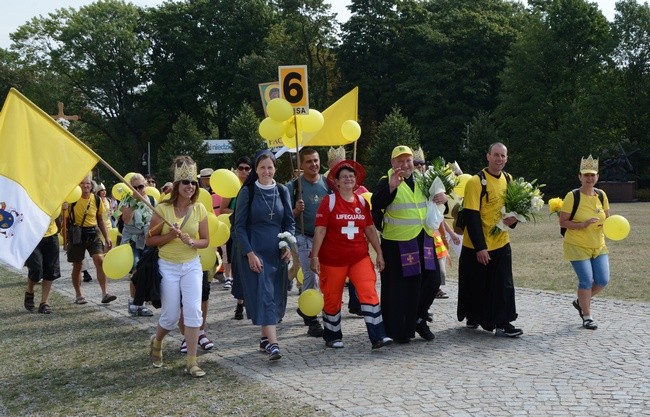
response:
M386 175L390 168L390 156L395 146L406 145L413 148L417 147L419 143L420 134L417 129L411 126L399 108L393 108L393 111L377 127L377 135L366 153L364 165L366 187L372 190L379 178Z

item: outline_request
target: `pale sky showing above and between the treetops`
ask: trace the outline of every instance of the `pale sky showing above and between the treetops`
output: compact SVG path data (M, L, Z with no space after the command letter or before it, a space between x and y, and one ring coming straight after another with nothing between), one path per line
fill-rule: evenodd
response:
M78 9L93 2L94 0L3 0L2 13L0 13L0 48L9 48L11 45L9 34L32 17L47 16L48 13L63 7ZM163 0L130 0L130 3L151 7L162 4ZM350 13L346 6L350 4L350 0L326 0L326 3L332 5L332 11L338 14L339 21L344 22L348 19ZM597 0L596 3L607 19L614 19L615 0Z

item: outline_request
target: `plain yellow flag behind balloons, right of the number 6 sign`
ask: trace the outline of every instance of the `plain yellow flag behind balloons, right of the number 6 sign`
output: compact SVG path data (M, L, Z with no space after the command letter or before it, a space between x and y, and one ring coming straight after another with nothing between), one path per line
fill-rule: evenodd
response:
M315 133L305 133L302 146L339 146L351 143L341 133L341 126L346 120L357 121L359 109L359 87L338 99L323 110L323 127Z

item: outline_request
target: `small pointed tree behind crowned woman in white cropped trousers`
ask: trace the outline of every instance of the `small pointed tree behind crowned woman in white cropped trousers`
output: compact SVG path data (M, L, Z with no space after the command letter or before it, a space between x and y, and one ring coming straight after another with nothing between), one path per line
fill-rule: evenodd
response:
M205 144L205 135L199 131L196 122L188 115L181 114L167 135L167 140L158 152L158 176L173 178L172 163L179 155L189 155L198 167L212 166Z

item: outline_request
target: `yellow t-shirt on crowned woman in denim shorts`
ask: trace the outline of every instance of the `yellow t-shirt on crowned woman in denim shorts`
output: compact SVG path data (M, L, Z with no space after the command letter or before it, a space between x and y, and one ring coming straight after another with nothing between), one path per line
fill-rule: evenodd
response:
M564 197L562 211L571 214L572 209L573 191L569 191ZM603 203L600 202L598 194L588 196L580 193L580 203L572 221L582 223L596 217L598 222L586 229L566 230L564 235L564 260L582 261L608 253L607 246L605 246L605 235L603 234L606 210L609 210L609 200L604 192Z

